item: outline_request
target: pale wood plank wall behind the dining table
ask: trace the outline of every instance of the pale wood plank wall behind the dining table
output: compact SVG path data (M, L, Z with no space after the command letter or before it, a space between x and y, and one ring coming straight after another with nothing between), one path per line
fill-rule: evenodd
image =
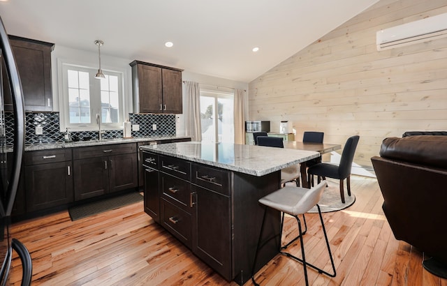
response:
M293 122L296 139L360 135L371 167L385 137L447 130L447 38L377 51L376 31L447 13L446 0L381 0L249 83L249 119ZM296 33L295 35L299 35Z

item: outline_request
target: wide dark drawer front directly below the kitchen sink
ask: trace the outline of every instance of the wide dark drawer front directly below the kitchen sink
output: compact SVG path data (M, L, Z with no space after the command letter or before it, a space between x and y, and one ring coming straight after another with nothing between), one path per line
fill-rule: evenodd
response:
M73 158L75 160L94 158L101 156L110 156L116 154L136 153L136 143L124 143L124 144L108 144L101 146L86 146L73 149Z

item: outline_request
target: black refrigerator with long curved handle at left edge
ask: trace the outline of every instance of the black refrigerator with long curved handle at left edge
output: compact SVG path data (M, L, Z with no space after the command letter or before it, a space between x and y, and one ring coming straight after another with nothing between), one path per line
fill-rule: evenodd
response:
M22 165L25 126L22 84L8 34L1 18L0 62L0 285L10 284L8 279L13 250L17 252L22 261L22 285L30 285L32 275L31 255L29 255L27 248L17 239L11 238L9 233L10 216ZM3 92L5 90L8 92ZM10 101L13 106L13 123L9 121L6 123L5 118L4 102L6 97L9 96L11 96ZM6 133L8 133L8 136L6 136Z

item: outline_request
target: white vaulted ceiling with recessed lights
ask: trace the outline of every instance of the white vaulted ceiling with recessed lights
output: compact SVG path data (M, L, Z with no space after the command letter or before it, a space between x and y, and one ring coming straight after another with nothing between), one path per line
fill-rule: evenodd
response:
M250 82L377 1L0 0L0 16L56 48L101 39L101 54Z

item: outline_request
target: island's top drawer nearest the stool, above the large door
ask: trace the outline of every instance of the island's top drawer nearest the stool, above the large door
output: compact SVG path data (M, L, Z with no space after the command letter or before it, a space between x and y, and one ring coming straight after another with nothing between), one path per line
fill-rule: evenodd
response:
M191 182L222 195L230 195L230 172L228 171L193 164Z

